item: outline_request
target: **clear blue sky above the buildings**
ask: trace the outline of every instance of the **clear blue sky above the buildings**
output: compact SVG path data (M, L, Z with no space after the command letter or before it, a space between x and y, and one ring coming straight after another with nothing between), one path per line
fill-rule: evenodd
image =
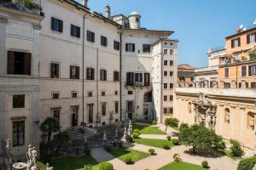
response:
M208 48L224 46L224 37L256 18L256 0L89 0L88 7L104 14L106 4L112 14L137 10L142 27L175 31L178 63L195 67L207 66Z

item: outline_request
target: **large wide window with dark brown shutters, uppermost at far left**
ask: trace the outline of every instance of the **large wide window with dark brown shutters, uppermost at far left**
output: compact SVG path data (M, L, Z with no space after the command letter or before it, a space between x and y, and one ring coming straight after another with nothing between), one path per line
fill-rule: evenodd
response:
M32 54L8 51L7 73L15 75L31 75Z

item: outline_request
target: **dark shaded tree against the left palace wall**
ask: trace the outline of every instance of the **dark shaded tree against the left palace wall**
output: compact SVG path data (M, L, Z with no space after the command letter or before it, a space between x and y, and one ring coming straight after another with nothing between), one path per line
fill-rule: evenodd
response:
M53 133L61 130L60 123L54 117L47 117L40 125L40 130L47 136L47 143L50 142Z

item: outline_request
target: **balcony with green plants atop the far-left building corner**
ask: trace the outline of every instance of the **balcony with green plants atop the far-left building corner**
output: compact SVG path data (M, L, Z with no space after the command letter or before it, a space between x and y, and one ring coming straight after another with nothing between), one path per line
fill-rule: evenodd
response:
M34 3L32 0L0 0L0 7L12 8L28 14L44 16L41 5Z

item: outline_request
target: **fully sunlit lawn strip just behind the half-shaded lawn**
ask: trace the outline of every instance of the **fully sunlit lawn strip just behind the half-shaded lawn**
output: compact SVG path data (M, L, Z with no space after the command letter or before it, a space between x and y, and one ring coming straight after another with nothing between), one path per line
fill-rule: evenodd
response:
M166 139L134 139L138 144L145 144L148 146L154 146L157 148L163 148L164 144L168 144L170 147L173 146L172 141Z

